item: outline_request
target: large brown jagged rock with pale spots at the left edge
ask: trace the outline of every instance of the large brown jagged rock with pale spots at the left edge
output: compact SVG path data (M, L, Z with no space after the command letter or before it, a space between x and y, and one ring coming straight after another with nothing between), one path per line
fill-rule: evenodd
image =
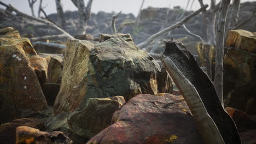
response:
M13 28L0 32L0 123L4 123L20 118L19 109L40 111L47 105L28 58L37 55L30 41Z

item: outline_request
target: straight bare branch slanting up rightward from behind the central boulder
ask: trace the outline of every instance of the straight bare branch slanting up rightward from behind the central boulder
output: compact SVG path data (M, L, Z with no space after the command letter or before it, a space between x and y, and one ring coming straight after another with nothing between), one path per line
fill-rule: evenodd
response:
M208 5L203 5L203 7L201 7L200 9L196 10L194 13L184 17L181 21L175 23L174 25L167 27L165 29L162 29L162 31L157 32L153 35L151 35L146 41L144 41L141 44L138 44L137 46L140 49L143 49L144 47L148 46L155 38L158 38L160 35L167 33L169 31L172 31L175 28L181 27L185 22L189 21L192 17L196 16L197 14L199 14L203 9L206 9L208 7Z

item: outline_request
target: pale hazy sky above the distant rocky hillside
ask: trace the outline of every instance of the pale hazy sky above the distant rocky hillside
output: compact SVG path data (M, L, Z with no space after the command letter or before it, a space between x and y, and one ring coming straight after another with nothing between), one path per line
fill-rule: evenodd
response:
M0 0L7 4L12 4L14 7L19 10L31 14L31 9L28 6L27 0ZM36 4L34 4L34 11L37 16L39 1L37 0ZM85 4L87 4L88 0L84 0ZM180 5L182 8L185 8L189 0L145 0L143 8L151 7L169 7L173 8L174 6ZM190 0L190 4L193 0ZM211 0L204 0L205 4L209 4ZM217 0L219 2L220 0ZM241 2L246 1L256 1L256 0L241 0ZM120 10L123 13L133 13L137 15L139 7L141 6L142 0L94 0L92 2L92 12L97 13L98 11L106 11L106 12L119 12ZM77 10L71 0L62 0L63 9L64 10ZM190 4L188 9L190 9ZM43 7L47 5L44 9L47 14L56 13L55 0L43 0ZM2 5L0 6L1 8ZM195 0L192 9L196 10L200 7L199 2Z

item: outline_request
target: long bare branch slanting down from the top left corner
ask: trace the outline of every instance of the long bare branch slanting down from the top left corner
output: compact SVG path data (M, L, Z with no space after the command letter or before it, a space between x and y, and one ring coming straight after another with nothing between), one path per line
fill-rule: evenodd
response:
M43 20L43 19L38 19L37 17L34 17L34 16L30 16L30 15L27 15L25 13L22 13L21 11L19 11L18 9L14 8L13 6L11 6L10 4L7 5L3 2L0 1L0 4L1 5L4 5L5 7L13 10L17 15L20 15L20 16L23 16L27 19L30 19L30 20L34 20L34 21L38 21L38 22L42 22L48 26L51 26L52 28L54 28L55 30L57 31L60 31L63 33L63 35L65 35L66 38L69 38L69 39L74 39L74 37L72 37L72 35L70 35L69 33L67 33L66 31L64 31L63 29L61 29L60 27L54 25L53 22L50 22L50 21L46 21L46 20Z

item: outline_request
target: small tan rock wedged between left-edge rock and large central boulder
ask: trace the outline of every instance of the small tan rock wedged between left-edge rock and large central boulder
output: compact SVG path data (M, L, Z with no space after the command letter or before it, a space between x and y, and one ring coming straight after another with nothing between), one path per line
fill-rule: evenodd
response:
M45 58L40 57L38 55L32 56L30 57L30 65L36 72L41 86L43 86L44 83L48 82L48 78L47 78L48 62L46 61Z

